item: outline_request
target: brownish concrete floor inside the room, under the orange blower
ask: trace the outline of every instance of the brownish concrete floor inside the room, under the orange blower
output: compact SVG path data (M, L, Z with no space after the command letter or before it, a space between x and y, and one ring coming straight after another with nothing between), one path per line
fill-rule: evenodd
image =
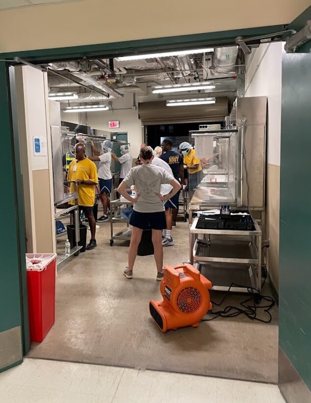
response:
M58 266L56 321L29 357L277 382L276 307L270 324L217 318L163 334L149 315L149 300L161 299L153 256L138 257L127 280L128 247L118 241L110 247L109 223L100 226L96 249ZM188 224L178 222L173 231L175 246L164 248L164 263L177 265L188 259ZM221 296L212 293L215 301ZM225 305L242 299L234 294Z

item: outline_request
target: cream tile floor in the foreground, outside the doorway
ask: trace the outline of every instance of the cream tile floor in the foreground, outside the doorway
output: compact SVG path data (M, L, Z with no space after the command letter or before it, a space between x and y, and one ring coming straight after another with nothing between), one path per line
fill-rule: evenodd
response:
M0 374L1 403L284 403L277 385L26 358Z

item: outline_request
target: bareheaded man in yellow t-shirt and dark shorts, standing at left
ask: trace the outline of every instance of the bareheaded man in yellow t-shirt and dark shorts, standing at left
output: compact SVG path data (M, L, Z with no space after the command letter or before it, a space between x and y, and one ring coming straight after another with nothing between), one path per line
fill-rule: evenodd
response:
M90 250L97 246L96 221L93 214L95 186L98 183L97 168L94 162L85 156L85 146L81 143L76 144L76 158L77 161L72 161L69 165L67 180L70 181L72 193L76 191L78 185L79 211L82 210L87 217L91 230L91 240L86 247L87 250Z

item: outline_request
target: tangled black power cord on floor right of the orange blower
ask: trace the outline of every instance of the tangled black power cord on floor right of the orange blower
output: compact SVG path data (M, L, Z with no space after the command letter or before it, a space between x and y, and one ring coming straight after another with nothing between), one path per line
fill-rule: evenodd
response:
M263 285L265 283L265 279L266 279L266 272L265 272L265 278L264 278ZM262 285L262 287L263 287L263 285ZM214 319L216 319L216 317L237 317L239 315L245 315L249 319L258 320L259 322L263 322L263 323L270 323L271 322L272 315L270 314L269 311L275 305L274 299L272 297L270 297L270 296L267 296L267 295L260 295L259 291L256 288L253 288L253 287L245 287L245 286L240 286L238 284L232 283L231 286L228 288L228 291L226 292L226 295L223 297L223 299L219 303L213 302L213 301L211 301L211 303L214 306L220 306L221 304L223 304L225 299L228 297L232 287L246 288L248 293L251 295L249 298L247 298L244 301L240 302L240 306L242 308L233 307L233 306L229 305L222 311L207 312L206 315L212 315L212 317L203 318L203 319L201 319L202 321L214 320ZM268 304L261 305L262 301L266 301L266 302L268 302ZM263 312L268 314L268 319L267 320L260 319L258 317L258 310L262 310L262 309L263 309Z

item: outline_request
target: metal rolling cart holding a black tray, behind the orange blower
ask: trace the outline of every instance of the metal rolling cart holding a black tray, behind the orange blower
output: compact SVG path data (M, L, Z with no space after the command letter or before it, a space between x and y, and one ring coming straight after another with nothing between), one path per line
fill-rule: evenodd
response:
M195 218L190 227L190 262L200 267L207 264L213 270L222 271L230 278L230 271L247 269L250 286L261 291L261 230L256 220L255 230L201 230L197 229L199 218ZM204 242L197 239L204 236ZM217 267L218 264L218 267ZM198 267L198 268L199 268ZM224 271L225 269L225 271ZM222 276L224 277L224 276ZM214 285L212 289L227 291L231 283ZM245 287L231 287L231 291L247 292Z

